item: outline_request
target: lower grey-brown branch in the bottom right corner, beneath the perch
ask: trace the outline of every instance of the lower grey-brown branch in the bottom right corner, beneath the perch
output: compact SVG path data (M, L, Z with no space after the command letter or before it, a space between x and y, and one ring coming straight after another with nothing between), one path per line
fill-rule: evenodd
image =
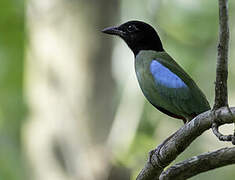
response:
M235 147L222 148L217 151L194 156L168 168L160 180L187 179L205 171L235 163Z

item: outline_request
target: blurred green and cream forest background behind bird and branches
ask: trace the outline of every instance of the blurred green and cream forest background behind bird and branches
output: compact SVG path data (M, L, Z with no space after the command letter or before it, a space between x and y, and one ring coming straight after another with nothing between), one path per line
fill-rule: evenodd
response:
M0 180L135 179L148 152L183 123L143 98L132 52L100 30L133 19L152 24L213 105L217 4L1 0ZM229 7L228 86L234 106L235 2ZM229 145L207 131L176 162ZM234 167L192 179L233 180Z

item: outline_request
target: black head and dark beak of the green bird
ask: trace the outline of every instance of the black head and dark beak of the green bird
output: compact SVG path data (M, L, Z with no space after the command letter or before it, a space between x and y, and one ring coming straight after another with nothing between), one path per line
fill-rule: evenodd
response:
M157 32L141 21L128 21L120 26L105 28L102 32L121 37L135 56L140 50L164 51Z

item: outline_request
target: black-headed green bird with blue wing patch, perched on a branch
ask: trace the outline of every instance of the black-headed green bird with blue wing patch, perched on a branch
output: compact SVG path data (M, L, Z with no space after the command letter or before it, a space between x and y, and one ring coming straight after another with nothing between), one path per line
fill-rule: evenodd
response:
M184 124L210 110L206 96L164 50L155 29L142 21L128 21L102 30L119 36L132 50L135 72L146 99L166 115L183 120Z

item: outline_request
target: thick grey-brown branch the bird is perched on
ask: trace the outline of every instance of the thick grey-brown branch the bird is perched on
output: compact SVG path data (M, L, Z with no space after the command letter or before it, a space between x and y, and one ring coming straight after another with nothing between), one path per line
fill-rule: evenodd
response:
M211 128L215 117L219 117L217 120L219 126L233 123L235 108L231 108L232 114L229 113L228 108L220 108L214 113L216 116L210 111L198 115L181 127L168 141L159 145L161 149L155 149L155 153L151 155L150 161L146 163L137 180L158 179L164 167L175 160L204 131Z

